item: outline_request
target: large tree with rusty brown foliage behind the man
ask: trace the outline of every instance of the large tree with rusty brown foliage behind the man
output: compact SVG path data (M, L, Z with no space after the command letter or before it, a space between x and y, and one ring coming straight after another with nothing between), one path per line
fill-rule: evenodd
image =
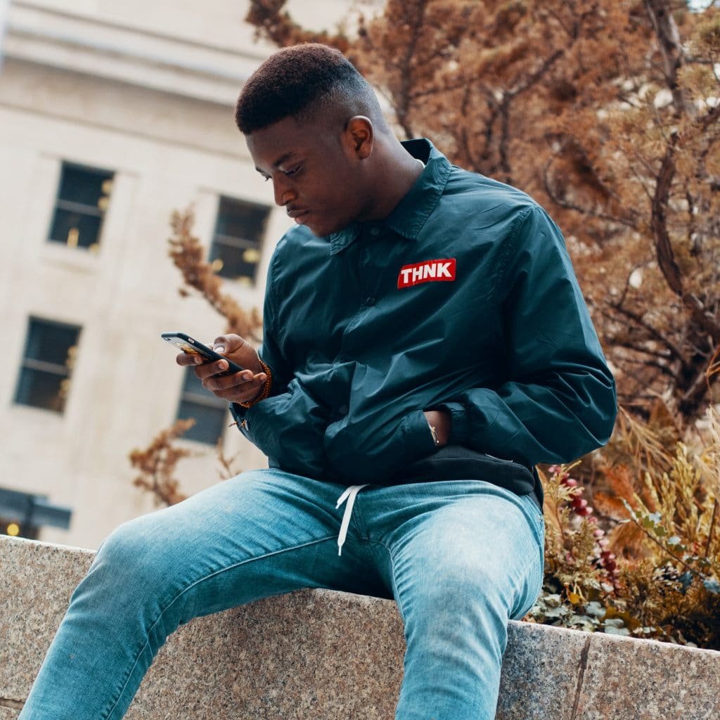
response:
M389 0L356 35L303 30L284 0L248 21L335 45L399 135L532 194L564 230L621 402L698 415L720 345L720 12L672 0Z

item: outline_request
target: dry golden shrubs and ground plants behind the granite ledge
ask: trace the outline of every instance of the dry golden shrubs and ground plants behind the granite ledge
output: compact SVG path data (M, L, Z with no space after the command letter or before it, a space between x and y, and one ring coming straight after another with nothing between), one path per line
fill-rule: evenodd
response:
M546 581L530 618L720 649L720 416L685 433L692 448L663 446L658 422L618 424L592 505L572 468L544 476Z

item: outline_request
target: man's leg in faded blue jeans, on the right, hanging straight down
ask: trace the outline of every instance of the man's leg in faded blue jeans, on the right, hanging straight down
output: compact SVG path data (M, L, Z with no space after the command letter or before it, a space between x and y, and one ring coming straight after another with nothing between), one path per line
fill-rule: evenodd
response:
M540 510L487 482L373 494L359 496L359 520L384 549L405 624L397 720L494 718L508 619L541 586Z

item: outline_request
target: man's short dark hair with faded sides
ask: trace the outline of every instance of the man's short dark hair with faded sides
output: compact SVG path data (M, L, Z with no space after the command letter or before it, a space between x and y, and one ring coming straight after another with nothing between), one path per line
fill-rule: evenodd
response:
M235 106L235 122L250 135L286 117L344 120L368 116L387 130L377 97L366 79L335 48L307 42L271 55L248 78Z

